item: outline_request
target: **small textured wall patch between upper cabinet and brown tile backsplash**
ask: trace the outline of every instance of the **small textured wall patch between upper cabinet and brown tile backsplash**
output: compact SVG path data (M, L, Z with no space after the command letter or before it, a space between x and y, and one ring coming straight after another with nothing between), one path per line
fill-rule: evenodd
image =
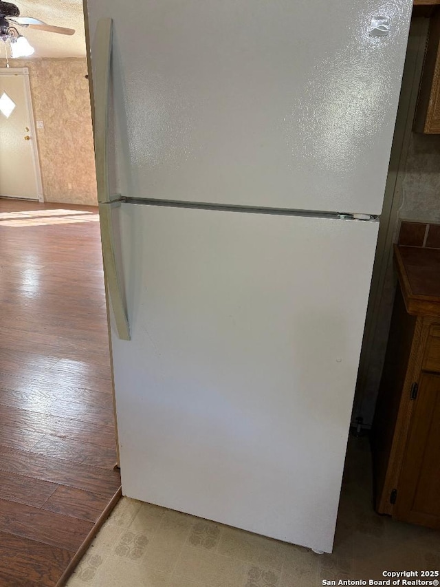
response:
M440 136L412 133L399 217L440 222Z

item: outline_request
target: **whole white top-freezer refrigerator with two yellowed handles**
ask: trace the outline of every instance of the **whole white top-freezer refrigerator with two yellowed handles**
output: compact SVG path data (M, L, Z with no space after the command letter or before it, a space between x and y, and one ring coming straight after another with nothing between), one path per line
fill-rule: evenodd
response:
M331 552L411 0L87 0L131 498Z

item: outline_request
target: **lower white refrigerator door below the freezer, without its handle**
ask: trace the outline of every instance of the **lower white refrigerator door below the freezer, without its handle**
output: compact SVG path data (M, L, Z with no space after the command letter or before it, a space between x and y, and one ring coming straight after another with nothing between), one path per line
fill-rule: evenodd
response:
M115 214L124 495L330 552L377 222Z

